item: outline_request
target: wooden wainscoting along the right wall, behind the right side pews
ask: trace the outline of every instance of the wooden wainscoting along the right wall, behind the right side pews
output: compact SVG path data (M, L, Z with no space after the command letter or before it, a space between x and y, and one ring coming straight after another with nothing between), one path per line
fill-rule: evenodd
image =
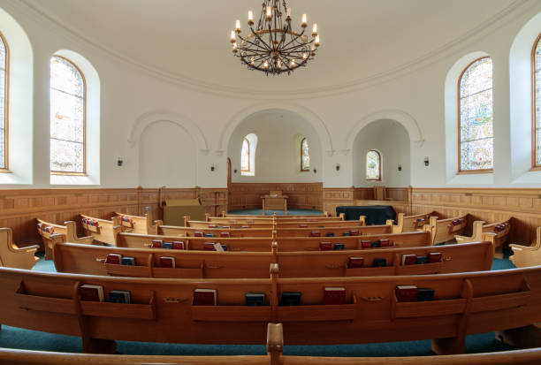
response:
M414 188L411 209L412 214L436 210L446 217L469 213L471 221L489 223L514 217L511 240L530 245L541 226L541 189Z

